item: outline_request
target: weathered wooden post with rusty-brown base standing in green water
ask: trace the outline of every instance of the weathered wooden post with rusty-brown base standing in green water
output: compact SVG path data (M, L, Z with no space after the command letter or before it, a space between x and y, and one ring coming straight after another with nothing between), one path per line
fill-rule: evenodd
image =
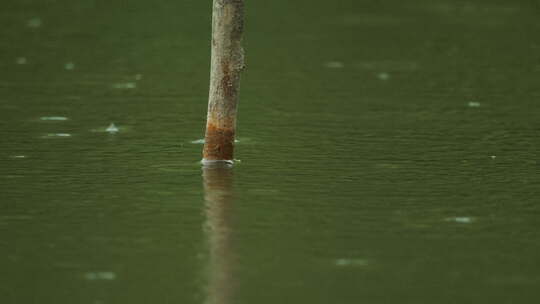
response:
M240 73L244 69L244 0L213 0L210 96L203 163L232 161Z

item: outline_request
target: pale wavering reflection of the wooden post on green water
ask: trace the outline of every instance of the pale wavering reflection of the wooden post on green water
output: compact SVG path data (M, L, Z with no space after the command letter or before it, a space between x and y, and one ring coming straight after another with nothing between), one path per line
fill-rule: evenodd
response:
M216 163L203 167L206 233L208 238L208 289L205 304L228 304L232 301L233 254L231 250L230 213L232 169Z

